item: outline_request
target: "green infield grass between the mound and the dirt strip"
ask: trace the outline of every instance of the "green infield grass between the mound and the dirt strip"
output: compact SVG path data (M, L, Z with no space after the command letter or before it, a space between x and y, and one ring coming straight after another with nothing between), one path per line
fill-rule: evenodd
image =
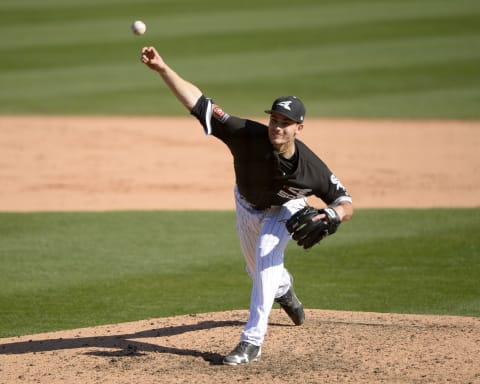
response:
M286 265L308 308L480 316L479 232L480 209L358 210ZM0 265L0 337L249 305L233 212L0 213Z

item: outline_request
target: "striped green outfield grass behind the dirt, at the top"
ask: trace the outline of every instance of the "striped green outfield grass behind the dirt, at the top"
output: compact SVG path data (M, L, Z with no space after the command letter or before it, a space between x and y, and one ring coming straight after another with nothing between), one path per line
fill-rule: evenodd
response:
M296 94L309 116L480 117L475 0L3 0L0 15L0 114L185 114L139 61L153 44L234 114Z

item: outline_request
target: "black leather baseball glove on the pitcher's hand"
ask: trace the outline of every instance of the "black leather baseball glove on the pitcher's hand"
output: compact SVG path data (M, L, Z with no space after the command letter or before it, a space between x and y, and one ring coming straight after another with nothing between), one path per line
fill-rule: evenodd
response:
M318 215L323 218L313 221ZM287 220L288 232L292 234L293 240L301 247L308 249L319 243L324 237L335 233L341 220L333 208L317 209L306 206L294 213Z

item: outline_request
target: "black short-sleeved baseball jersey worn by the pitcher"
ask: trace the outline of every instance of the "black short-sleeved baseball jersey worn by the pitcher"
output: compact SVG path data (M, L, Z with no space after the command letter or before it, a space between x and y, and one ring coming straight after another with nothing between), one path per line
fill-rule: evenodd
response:
M285 159L273 148L266 125L230 116L204 96L192 115L207 134L230 149L238 191L254 208L266 209L311 195L327 205L351 201L345 187L302 141L295 139L294 162L282 166Z

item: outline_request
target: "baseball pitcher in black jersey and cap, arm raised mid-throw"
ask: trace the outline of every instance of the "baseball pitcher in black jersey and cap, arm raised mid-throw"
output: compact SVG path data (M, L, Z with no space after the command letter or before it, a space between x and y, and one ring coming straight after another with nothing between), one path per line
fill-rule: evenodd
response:
M157 72L177 99L195 116L207 135L228 146L234 160L236 223L248 275L253 281L250 312L238 345L226 365L256 361L274 302L295 325L305 321L284 251L293 238L305 249L336 232L353 215L352 199L339 179L297 136L304 129L305 107L295 96L276 99L268 125L224 112L198 87L171 69L154 47L141 60ZM328 145L341 150L335 138ZM323 209L307 205L315 195Z

